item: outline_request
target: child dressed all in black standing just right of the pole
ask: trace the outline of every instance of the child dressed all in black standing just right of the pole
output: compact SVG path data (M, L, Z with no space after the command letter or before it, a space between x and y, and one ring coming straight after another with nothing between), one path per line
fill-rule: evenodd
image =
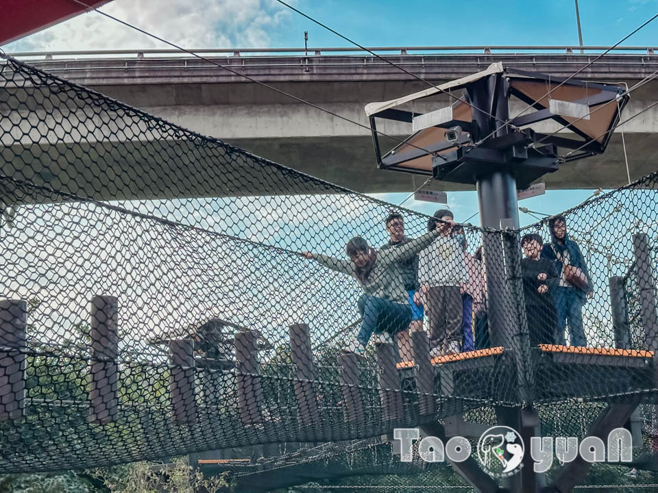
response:
M541 257L543 238L537 233L526 234L521 246L526 257L521 261L523 294L531 346L555 344L557 316L554 295L559 283L555 260Z

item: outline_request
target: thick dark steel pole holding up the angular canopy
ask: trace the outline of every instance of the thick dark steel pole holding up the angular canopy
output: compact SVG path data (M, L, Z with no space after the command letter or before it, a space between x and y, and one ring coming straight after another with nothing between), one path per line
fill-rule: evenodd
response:
M492 75L481 84L473 84L468 91L470 102L483 111L473 110L475 123L474 140L478 141L493 132L500 137L508 133L508 127L500 121L509 120L509 84L502 75ZM486 113L485 113L486 112ZM496 116L491 118L489 113ZM518 229L519 212L517 186L513 170L491 164L483 166L476 176L480 224L485 228ZM526 406L532 404L532 379L530 347L526 329L526 310L520 285L520 245L518 234L483 232L487 283L487 314L493 346L511 350L519 385L519 400ZM529 391L529 392L528 392ZM537 425L526 425L521 407L498 408L498 422L522 433L529 442L539 430ZM532 413L532 412L531 412ZM535 415L535 414L533 414ZM529 443L526 447L529 447ZM532 468L522 475L503 481L510 493L536 492L543 485Z

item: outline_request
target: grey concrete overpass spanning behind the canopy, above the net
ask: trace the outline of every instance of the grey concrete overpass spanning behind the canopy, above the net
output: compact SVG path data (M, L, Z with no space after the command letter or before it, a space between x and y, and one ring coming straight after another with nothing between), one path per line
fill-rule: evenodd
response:
M492 62L568 77L607 47L376 48L396 65L438 84L481 71ZM422 90L427 85L354 49L198 50L206 60L172 50L14 53L16 58L140 108L199 134L360 192L409 192L419 177L376 168L367 129L341 120L234 75L215 64L266 82L350 120L368 125L366 103ZM579 79L632 86L658 69L651 47L616 49L578 74ZM658 81L633 91L622 118L655 100ZM448 97L438 98L445 101ZM524 109L517 101L511 114ZM421 105L419 111L424 111ZM433 108L436 108L434 106ZM546 123L542 131L557 126ZM406 136L398 123L378 129ZM623 126L631 179L655 170L658 107ZM391 141L392 142L392 141ZM54 173L55 175L57 173ZM548 188L611 188L625 184L617 131L604 155L565 164L546 176ZM435 182L432 188L467 186ZM237 192L242 193L242 192ZM246 191L244 193L247 193Z

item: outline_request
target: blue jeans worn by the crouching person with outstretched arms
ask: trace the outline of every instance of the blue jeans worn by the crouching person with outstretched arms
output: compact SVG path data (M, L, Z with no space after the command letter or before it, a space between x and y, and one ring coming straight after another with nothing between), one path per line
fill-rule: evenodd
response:
M368 344L372 333L384 331L398 333L409 327L411 308L409 305L377 298L370 294L361 294L358 298L358 312L363 321L356 339L364 346Z

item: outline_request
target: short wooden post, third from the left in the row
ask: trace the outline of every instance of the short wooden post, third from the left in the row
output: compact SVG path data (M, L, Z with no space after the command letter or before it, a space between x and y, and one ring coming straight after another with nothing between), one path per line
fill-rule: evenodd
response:
M197 419L197 401L194 394L194 346L191 340L169 341L169 396L172 420L188 423Z

